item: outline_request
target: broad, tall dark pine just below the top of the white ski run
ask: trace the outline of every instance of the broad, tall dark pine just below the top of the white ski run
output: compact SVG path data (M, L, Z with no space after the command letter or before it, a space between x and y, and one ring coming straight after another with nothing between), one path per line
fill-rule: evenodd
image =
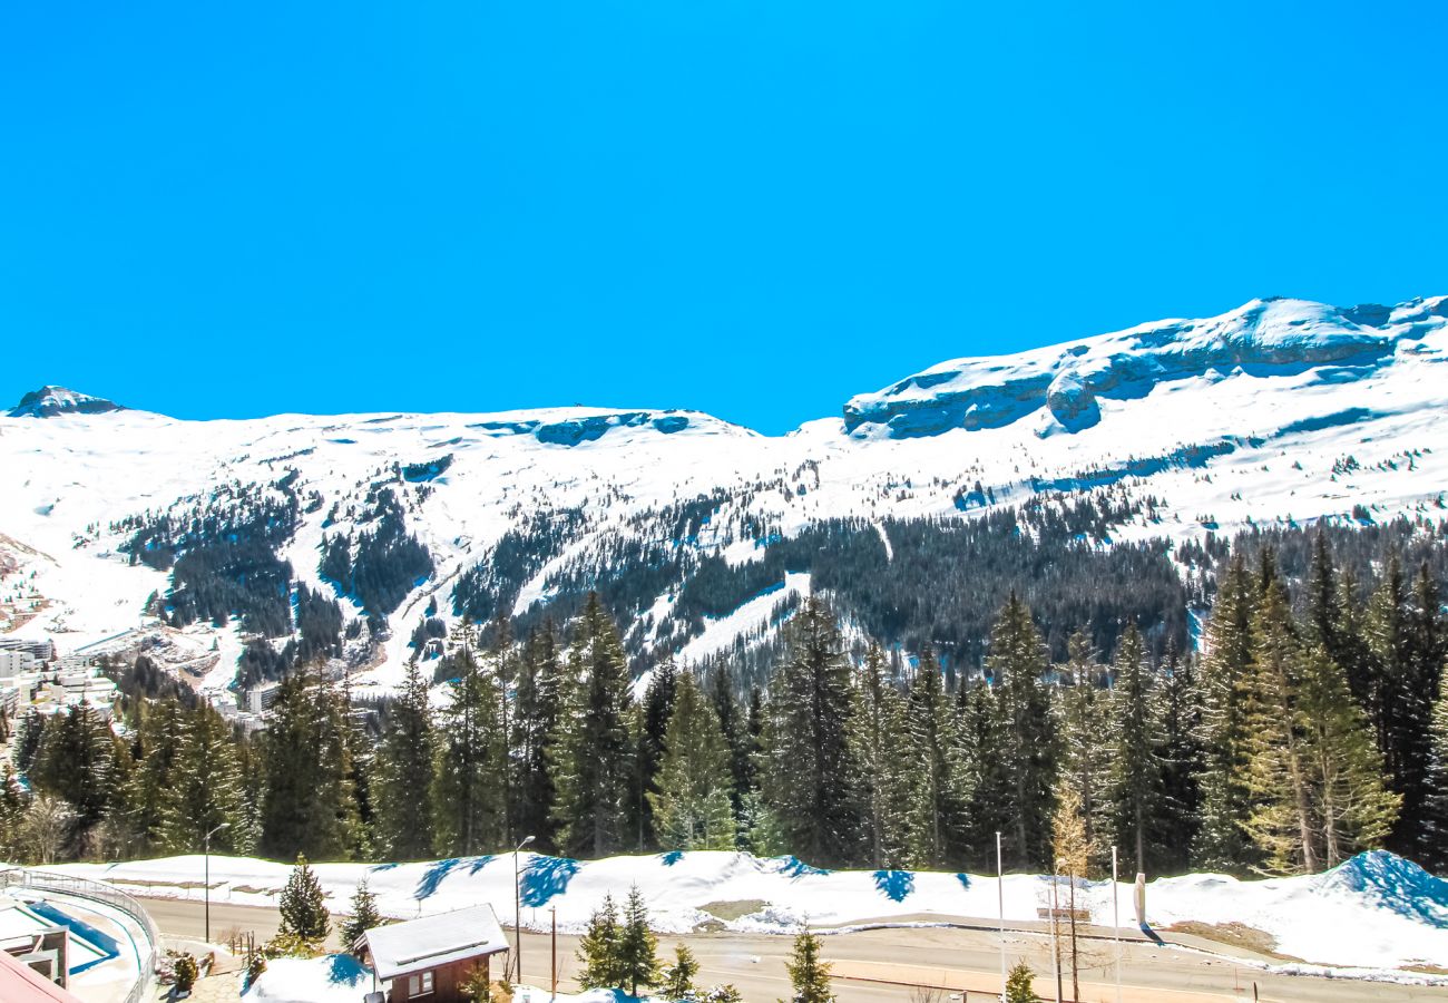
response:
M828 606L805 600L788 628L788 651L770 681L762 742L763 793L795 852L815 864L854 858L859 775L849 748L851 683Z

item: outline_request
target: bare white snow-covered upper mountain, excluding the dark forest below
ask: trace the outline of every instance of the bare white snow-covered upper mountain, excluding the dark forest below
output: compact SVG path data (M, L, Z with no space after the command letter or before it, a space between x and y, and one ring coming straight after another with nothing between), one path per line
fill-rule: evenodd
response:
M1099 545L1442 517L1445 361L1448 297L1254 300L944 362L783 436L652 409L188 422L46 387L0 417L0 630L90 651L148 639L223 686L237 623L156 619L171 577L136 559L162 538L156 520L169 517L167 545L181 554L197 536L178 542L180 526L275 504L291 515L266 545L295 581L336 594L319 570L324 538L381 532L391 491L433 570L387 612L391 636L353 655L362 678L391 684L413 625L434 603L450 617L459 588L476 613L523 615L623 567L644 597L636 649L698 659L778 626L811 575L770 554L830 520L877 533L889 561L899 539L886 520L975 520L1103 493L1150 503L1127 506ZM689 581L720 568L752 583L747 594L689 606ZM359 617L348 591L345 613Z

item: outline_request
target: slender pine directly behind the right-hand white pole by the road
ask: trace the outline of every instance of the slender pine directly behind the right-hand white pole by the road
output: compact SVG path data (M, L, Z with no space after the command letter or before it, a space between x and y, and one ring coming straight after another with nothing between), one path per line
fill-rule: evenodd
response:
M1128 867L1145 873L1148 864L1156 862L1147 857L1147 849L1157 845L1153 823L1161 812L1161 735L1153 715L1151 670L1134 623L1121 638L1114 670L1108 812L1116 844L1127 851Z

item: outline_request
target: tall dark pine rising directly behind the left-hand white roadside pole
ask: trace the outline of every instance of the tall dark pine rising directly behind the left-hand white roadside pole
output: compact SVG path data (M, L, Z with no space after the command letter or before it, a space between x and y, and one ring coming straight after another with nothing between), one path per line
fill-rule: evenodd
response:
M1045 646L1031 610L1014 591L990 632L986 671L995 690L992 735L1001 742L995 755L1005 774L1005 804L999 809L1009 819L1016 864L1037 868L1050 862L1057 735L1041 684Z

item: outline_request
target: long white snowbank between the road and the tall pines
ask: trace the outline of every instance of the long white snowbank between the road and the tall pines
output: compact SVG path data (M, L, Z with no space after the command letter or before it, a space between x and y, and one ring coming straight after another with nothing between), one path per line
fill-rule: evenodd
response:
M524 854L523 923L546 928L557 910L560 929L578 932L604 894L615 899L637 884L660 932L689 932L718 923L712 910L734 915L728 929L791 933L801 923L849 926L864 922L931 922L933 917L996 916L996 880L969 874L909 871L820 871L792 857L694 852L614 857L582 862ZM71 864L62 868L156 897L200 897L201 858L172 857L129 864ZM211 858L213 900L272 904L288 867L249 858ZM345 910L366 878L384 913L407 919L482 902L511 915L511 855L418 864L317 864L333 910ZM185 887L188 886L188 887ZM1050 878L1008 874L1008 920L1035 920ZM1122 922L1134 922L1132 890L1118 888ZM1112 922L1111 881L1077 888L1077 904L1093 920ZM1147 886L1153 926L1183 920L1244 923L1276 939L1283 955L1316 965L1406 968L1448 961L1448 881L1387 852L1357 857L1325 874L1239 881L1215 874L1161 878Z

